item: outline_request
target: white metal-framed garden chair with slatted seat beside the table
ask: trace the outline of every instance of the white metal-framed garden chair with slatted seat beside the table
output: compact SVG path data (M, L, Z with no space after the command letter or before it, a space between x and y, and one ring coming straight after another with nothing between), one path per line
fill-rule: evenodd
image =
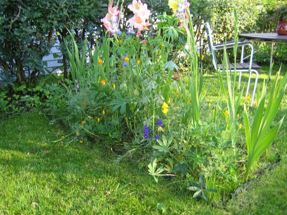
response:
M257 88L257 81L258 81L258 72L257 70L260 69L261 67L256 65L255 63L252 62L253 60L253 53L254 49L253 46L249 41L243 41L243 42L238 42L238 47L241 47L241 57L240 57L240 62L236 63L230 63L230 66L228 68L225 68L222 64L218 64L215 56L215 51L217 50L222 50L224 47L227 49L233 48L235 45L234 41L228 41L222 44L214 44L213 43L213 38L212 38L212 31L210 28L210 24L206 23L205 24L207 27L207 38L208 38L208 45L209 45L209 51L212 56L212 62L213 66L216 69L216 71L220 72L239 72L239 83L238 83L238 89L240 89L240 82L241 82L241 73L242 72L248 72L249 73L249 78L248 78L248 84L247 84L247 90L246 90L246 97L249 94L249 88L250 88L250 82L251 82L251 75L252 73L256 74L255 82L254 82L254 89L253 89L253 94L251 98L251 106L253 105L254 102L254 97L256 93L256 88ZM251 53L248 57L244 58L244 49L245 46L248 46L251 49ZM244 59L249 58L249 62L244 62Z

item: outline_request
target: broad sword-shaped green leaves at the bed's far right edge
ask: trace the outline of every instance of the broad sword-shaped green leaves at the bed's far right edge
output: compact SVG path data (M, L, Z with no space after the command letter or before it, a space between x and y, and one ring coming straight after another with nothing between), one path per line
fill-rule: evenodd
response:
M267 94L267 83L263 84L261 91L261 97L258 107L255 112L254 121L250 123L248 118L248 112L244 104L244 130L245 141L247 144L248 162L245 170L244 180L248 179L249 172L254 162L260 157L265 149L272 143L276 136L284 117L271 128L274 118L279 109L279 105L286 90L287 73L279 78L279 74L276 74L275 80L272 85L270 97L267 106L264 111L265 99ZM251 128L251 129L250 129Z

